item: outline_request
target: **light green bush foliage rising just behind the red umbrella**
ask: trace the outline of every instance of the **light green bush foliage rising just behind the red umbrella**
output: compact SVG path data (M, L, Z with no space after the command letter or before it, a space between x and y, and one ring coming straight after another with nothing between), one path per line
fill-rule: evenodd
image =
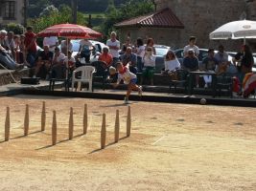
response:
M72 11L67 6L61 6L59 11L53 11L50 15L43 15L38 18L28 20L28 26L32 26L35 32L40 32L45 28L62 23L71 23ZM84 14L78 12L78 24L85 25L86 20Z

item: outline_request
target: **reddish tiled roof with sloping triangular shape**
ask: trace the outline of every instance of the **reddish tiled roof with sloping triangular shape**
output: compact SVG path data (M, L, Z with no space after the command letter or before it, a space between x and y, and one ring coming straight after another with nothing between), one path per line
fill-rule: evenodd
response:
M156 11L148 15L138 16L125 20L115 24L115 27L159 27L183 29L184 25L172 10L166 8L164 10Z

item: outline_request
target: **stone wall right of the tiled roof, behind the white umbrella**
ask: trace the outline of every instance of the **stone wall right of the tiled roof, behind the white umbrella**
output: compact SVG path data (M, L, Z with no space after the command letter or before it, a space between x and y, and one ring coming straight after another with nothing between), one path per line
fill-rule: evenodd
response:
M169 7L184 24L175 46L184 47L191 35L198 37L201 48L216 48L223 44L228 51L236 51L243 40L209 40L209 33L221 25L240 20L256 19L256 1L253 0L154 0L157 10ZM251 45L254 41L248 41Z

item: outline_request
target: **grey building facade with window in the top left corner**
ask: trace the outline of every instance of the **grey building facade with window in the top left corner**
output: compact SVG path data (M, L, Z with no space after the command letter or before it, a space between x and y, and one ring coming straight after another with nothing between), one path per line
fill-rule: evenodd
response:
M0 25L17 23L24 25L24 5L26 0L0 0Z

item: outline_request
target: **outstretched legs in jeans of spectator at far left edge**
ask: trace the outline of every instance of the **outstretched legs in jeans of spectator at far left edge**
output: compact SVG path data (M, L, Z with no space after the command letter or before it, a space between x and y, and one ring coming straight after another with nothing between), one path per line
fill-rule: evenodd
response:
M23 68L22 64L17 64L8 52L0 45L0 64L11 70L19 70Z

